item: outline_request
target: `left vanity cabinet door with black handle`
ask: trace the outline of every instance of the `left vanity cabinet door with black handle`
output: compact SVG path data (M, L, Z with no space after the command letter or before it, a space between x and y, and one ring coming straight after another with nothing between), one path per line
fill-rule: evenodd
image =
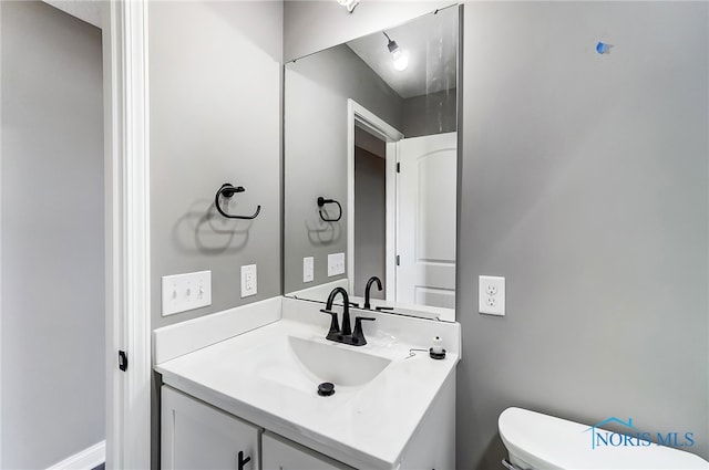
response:
M161 397L161 468L260 469L260 428L167 386Z

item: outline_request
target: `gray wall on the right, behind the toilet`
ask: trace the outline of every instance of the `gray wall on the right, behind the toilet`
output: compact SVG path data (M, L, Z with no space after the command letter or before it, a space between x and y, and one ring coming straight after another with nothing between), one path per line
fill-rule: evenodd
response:
M709 458L708 7L465 4L460 468L499 468L510 406Z

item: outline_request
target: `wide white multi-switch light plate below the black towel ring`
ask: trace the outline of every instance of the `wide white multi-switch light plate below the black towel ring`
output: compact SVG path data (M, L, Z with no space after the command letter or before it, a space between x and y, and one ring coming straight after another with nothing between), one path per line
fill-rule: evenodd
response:
M163 316L212 305L212 271L163 276Z

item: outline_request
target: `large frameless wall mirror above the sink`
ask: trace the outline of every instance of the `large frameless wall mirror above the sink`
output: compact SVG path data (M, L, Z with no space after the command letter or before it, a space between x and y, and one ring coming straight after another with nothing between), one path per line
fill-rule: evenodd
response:
M455 320L459 55L453 6L286 64L286 295Z

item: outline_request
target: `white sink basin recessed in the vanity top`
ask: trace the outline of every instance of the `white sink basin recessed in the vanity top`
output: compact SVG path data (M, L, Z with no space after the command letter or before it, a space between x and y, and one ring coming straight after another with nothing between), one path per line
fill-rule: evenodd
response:
M391 359L386 357L296 336L288 337L288 345L302 372L315 376L316 382L331 382L348 387L362 386L391 364Z

